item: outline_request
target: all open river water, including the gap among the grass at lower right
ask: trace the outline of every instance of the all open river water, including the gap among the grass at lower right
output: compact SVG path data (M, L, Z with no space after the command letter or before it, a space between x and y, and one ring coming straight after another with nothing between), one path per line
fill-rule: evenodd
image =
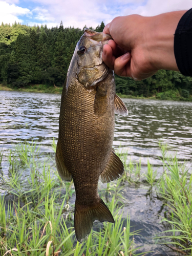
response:
M3 151L12 148L12 143L37 140L41 152L52 152L53 137L58 137L58 118L61 95L5 92L0 91L0 147ZM147 159L154 166L161 165L159 141L166 142L169 154L175 154L182 163L191 165L192 154L192 103L159 100L123 99L129 116L116 115L114 147L127 152L128 160L141 161L142 170L146 169ZM0 148L0 151L1 151ZM3 164L4 165L4 162ZM8 172L6 165L3 172ZM161 172L161 166L158 167ZM0 184L1 185L1 184ZM101 186L101 185L100 185ZM1 189L5 189L3 185ZM163 217L163 204L146 184L127 186L123 217L131 216L134 230L143 229L136 236L138 245L144 251L153 250L156 255L175 255L165 246L156 245L151 239L163 231L160 223ZM161 217L160 217L161 216ZM147 255L154 255L152 254Z

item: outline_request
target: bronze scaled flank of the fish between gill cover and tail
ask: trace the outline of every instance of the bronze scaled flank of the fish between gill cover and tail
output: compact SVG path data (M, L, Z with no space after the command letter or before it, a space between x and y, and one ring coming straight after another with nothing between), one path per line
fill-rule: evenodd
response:
M77 199L98 195L97 184L112 150L114 105L108 96L108 108L94 113L95 92L79 83L64 90L59 119L59 140L63 159L72 174ZM88 200L89 201L89 200ZM86 202L83 202L86 203Z

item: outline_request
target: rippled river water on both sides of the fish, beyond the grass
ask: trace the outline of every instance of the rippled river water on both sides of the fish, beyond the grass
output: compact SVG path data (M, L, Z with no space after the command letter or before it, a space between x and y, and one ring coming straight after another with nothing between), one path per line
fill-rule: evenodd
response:
M61 95L0 92L0 145L6 148L19 140L37 140L49 151L58 137ZM192 103L123 99L129 116L116 115L114 146L123 147L133 160L150 158L157 164L159 141L177 152L181 161L192 154Z

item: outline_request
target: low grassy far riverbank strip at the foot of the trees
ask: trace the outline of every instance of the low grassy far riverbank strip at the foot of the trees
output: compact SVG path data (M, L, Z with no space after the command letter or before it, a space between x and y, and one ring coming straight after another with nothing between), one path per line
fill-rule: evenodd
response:
M55 93L61 94L62 87L53 87L47 86L46 84L32 84L23 88L19 89L12 89L9 86L3 86L0 84L0 91L15 91L15 92L32 92L32 93ZM185 90L183 90L185 91ZM166 91L163 93L157 93L157 95L153 95L152 97L143 97L141 96L134 96L134 95L125 95L121 93L117 93L117 95L121 98L129 98L129 99L160 99L160 100L181 100L181 101L192 101L192 95L188 95L187 93L183 93L185 97L182 96L182 93L178 90L173 91Z

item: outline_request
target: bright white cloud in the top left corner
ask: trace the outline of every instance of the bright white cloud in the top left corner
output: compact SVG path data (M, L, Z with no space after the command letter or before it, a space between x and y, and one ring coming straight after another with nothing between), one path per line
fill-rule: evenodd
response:
M20 15L30 14L30 10L15 6L15 4L9 4L4 1L0 1L0 23L14 23L22 22L22 19L18 18Z

